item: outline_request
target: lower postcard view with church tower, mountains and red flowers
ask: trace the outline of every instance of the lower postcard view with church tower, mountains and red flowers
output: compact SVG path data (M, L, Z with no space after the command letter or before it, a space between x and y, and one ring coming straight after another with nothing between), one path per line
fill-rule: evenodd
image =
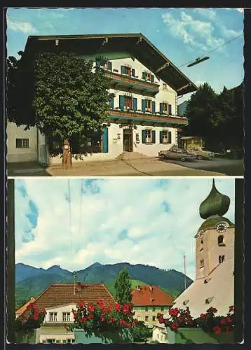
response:
M242 186L222 177L8 180L6 339L241 342Z

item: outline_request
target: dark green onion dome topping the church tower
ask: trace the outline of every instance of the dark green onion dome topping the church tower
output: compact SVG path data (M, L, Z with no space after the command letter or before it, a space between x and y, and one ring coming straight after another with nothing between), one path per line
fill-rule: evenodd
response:
M208 197L200 205L200 216L203 219L213 215L223 216L229 210L230 198L219 193L215 187L215 179L212 181L212 190Z

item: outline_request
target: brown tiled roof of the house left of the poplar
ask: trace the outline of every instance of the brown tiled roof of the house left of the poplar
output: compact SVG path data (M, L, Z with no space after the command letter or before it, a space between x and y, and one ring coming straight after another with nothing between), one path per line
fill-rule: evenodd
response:
M51 284L39 297L36 305L39 308L58 307L64 304L78 302L97 302L103 299L107 304L115 304L114 297L104 283L74 283Z

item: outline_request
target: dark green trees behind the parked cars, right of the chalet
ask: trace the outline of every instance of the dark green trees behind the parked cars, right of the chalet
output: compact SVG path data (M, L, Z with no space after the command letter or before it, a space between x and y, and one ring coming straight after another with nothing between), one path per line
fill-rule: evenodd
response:
M216 94L204 83L186 106L185 134L202 137L212 151L243 148L243 84Z

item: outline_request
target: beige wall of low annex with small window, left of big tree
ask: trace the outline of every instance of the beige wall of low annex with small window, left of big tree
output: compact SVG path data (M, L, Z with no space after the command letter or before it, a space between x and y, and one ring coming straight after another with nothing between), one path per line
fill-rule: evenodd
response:
M18 127L15 123L7 123L7 162L34 162L38 158L37 130L31 127L24 130L25 125ZM29 139L29 147L17 148L16 139Z

